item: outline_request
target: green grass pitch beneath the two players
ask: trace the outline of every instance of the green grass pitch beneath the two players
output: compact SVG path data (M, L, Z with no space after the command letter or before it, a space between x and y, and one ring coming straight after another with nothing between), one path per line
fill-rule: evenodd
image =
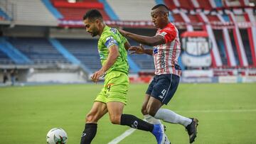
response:
M0 88L0 144L46 144L55 127L68 133L68 144L80 143L85 114L102 84ZM147 84L131 84L124 113L140 113ZM256 143L256 84L180 84L166 109L199 120L198 144ZM185 128L164 123L172 144L188 143ZM129 129L112 125L105 115L92 144L107 144ZM135 131L120 144L156 144L151 133Z

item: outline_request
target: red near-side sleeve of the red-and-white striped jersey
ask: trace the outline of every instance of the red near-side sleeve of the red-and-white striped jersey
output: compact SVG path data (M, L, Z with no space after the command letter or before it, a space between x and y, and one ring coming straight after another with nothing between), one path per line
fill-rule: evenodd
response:
M166 43L170 43L176 38L177 31L175 27L164 28L159 32L159 35L164 36Z

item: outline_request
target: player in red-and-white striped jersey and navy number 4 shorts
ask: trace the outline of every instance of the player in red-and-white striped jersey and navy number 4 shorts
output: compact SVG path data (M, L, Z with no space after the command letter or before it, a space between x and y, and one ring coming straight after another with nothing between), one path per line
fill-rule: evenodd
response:
M146 91L142 113L151 123L168 123L183 125L188 131L189 142L193 143L197 134L198 119L186 118L161 106L168 104L176 92L181 68L178 65L178 56L181 53L181 43L178 30L169 21L169 9L164 4L159 4L151 9L151 18L157 29L153 37L137 35L119 30L122 35L132 38L138 43L153 46L153 49L144 49L142 45L129 48L131 53L153 55L155 76Z

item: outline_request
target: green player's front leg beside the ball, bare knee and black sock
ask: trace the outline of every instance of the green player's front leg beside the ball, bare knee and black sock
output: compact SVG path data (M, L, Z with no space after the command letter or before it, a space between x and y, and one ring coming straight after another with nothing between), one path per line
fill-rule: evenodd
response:
M95 101L92 109L86 116L85 129L82 132L80 144L90 144L97 133L97 121L107 113L105 103Z

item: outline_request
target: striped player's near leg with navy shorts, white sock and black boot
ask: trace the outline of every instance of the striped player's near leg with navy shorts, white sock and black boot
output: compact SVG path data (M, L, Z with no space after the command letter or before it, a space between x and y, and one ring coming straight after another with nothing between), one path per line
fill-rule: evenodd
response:
M174 96L178 83L179 77L175 74L159 76L146 106L146 111L154 118L185 126L192 143L196 138L198 120L196 118L186 118L169 109L160 109L163 104L168 104L172 96Z

